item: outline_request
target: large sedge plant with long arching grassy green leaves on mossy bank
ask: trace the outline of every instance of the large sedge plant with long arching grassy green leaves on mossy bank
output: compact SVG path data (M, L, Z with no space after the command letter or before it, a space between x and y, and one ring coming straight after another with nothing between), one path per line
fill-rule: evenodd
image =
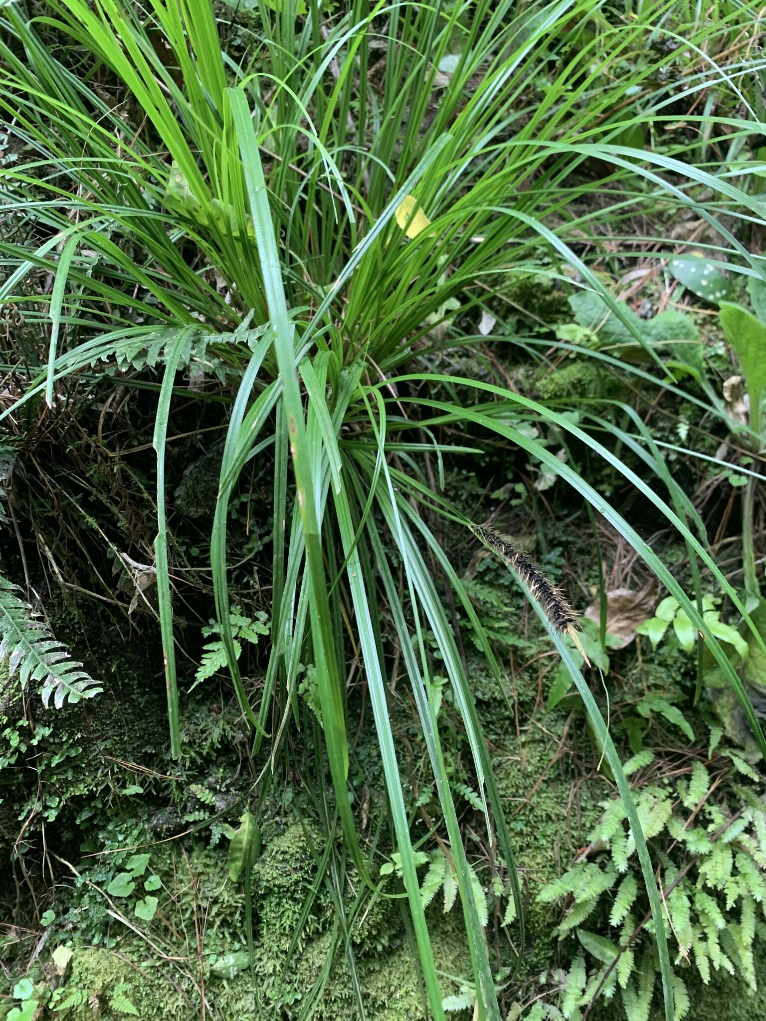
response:
M747 102L745 114L737 102L758 60L731 56L730 40L747 32L757 10L719 6L715 23L689 11L684 25L673 20L671 3L642 4L623 16L593 0L522 12L509 0L353 0L330 12L317 0L305 8L296 0L258 2L250 45L236 56L225 46L236 14L217 16L207 0L152 0L146 7L45 0L33 17L15 4L1 11L0 109L17 158L0 171L0 196L4 216L23 229L0 241L0 295L46 336L23 393L4 417L17 423L29 401L42 396L50 405L63 381L104 366L116 367L129 385L159 371L155 566L177 755L183 706L163 481L167 425L188 367L205 372L214 362L227 386L235 381L210 536L217 630L234 691L255 749L268 749L274 769L286 753L300 670L313 664L334 812L360 876L372 885L371 853L347 785L354 724L344 683L349 636L341 586L348 592L434 1018L444 1011L388 713L381 597L443 813L478 1018L500 1015L431 696L426 631L452 687L489 837L509 870L521 942L523 912L504 808L443 606L442 575L488 669L498 679L499 671L421 512L458 521L467 535L480 523L429 484L422 458L461 448L428 437L445 426L448 435L470 428L499 437L580 493L705 634L766 749L741 683L695 601L617 508L509 425L509 409L555 424L624 476L745 614L686 518L567 417L506 387L439 371L444 349L464 342L449 330L456 303L467 307L484 282L533 274L542 256L553 255L602 296L643 349L643 376L668 385L658 351L592 270L607 227L613 241L637 210L695 210L721 238L720 261L763 275L736 230L762 223L762 202L728 173L725 158L714 158L756 130ZM680 84L663 77L667 47L658 43L668 33L691 36ZM711 56L717 52L720 61ZM712 88L733 98L720 115L704 117L695 97ZM636 145L639 137L661 135L679 103L688 107L689 125L706 121L705 133L657 148ZM594 202L596 196L608 201ZM41 275L53 281L47 297L35 286ZM227 525L241 473L267 448L274 457L272 645L255 692L240 673L230 621ZM629 786L569 647L535 592L528 595L585 701L624 799L657 921L671 1021L660 897Z

